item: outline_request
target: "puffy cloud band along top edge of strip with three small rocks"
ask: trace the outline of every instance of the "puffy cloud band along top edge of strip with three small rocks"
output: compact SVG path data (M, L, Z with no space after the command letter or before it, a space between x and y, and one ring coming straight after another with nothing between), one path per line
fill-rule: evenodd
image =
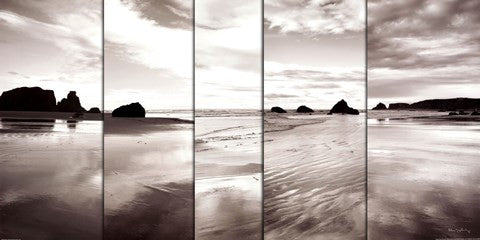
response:
M336 35L363 32L365 3L358 0L266 0L265 25L281 33Z

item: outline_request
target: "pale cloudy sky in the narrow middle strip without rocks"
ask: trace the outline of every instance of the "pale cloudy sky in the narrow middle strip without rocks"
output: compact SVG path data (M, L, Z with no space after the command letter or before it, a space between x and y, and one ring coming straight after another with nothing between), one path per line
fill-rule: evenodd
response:
M262 1L195 1L195 107L261 109Z

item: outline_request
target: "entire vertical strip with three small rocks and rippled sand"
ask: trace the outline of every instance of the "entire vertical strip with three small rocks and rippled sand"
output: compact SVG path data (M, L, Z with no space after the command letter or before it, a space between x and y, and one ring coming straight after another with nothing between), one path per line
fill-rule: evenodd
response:
M264 236L365 238L365 3L264 5Z

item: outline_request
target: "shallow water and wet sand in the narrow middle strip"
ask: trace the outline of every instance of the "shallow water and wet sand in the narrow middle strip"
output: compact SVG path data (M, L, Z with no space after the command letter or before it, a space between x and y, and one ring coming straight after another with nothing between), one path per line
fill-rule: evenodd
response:
M262 239L261 117L197 117L195 131L195 239Z

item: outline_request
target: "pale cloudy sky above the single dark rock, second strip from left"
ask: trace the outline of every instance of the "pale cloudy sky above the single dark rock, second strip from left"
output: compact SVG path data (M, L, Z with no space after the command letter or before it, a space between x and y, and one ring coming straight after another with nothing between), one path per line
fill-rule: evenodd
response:
M105 109L191 109L190 0L105 0Z

